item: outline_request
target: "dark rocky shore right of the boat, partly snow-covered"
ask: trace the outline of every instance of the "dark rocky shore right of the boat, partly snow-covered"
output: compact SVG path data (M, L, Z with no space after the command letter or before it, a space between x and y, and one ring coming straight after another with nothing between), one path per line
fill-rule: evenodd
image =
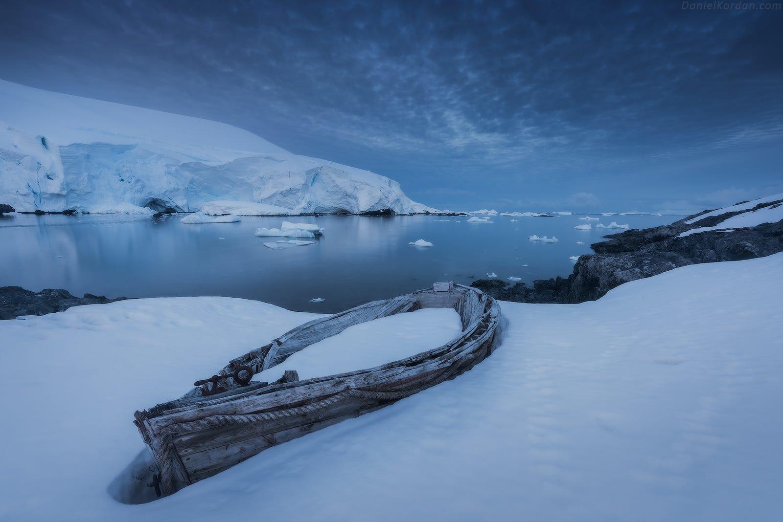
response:
M662 227L608 235L607 241L590 245L596 253L580 256L573 273L565 278L536 280L532 286L525 283L507 286L496 279L480 279L471 286L505 301L577 303L593 301L620 284L678 266L770 256L783 251L783 220L682 237L680 234L695 228L715 227L731 217L781 205L783 200L777 199L744 210L732 211L728 207L725 213L705 210ZM709 215L695 219L705 214Z

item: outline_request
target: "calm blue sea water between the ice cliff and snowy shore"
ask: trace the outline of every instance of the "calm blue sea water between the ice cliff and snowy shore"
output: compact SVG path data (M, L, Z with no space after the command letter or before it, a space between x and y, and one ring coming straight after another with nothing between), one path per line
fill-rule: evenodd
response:
M280 227L280 217L186 225L182 216L3 216L0 286L110 297L225 295L334 313L433 281L470 284L492 272L505 281L567 276L574 265L569 256L590 253L590 243L617 232L577 231L575 225L586 223L580 216L497 216L493 223L468 223L464 216L301 217L289 220L318 223L326 233L315 245L279 249L263 244L280 238L253 232ZM589 223L644 228L677 219L612 216ZM560 241L529 241L532 234ZM417 239L434 246L408 245Z

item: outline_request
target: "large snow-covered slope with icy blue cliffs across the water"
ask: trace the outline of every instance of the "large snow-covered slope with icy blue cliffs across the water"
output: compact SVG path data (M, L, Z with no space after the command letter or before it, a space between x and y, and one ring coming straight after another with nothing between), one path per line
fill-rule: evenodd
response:
M297 156L225 123L0 80L0 203L195 211L214 200L290 213L434 211L387 177Z

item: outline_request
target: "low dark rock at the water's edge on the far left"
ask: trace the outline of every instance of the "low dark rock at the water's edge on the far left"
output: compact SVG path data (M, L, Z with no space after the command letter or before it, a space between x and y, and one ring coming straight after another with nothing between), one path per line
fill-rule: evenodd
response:
M47 288L36 293L19 286L4 286L0 287L0 320L18 316L42 316L61 312L71 306L96 305L124 299L128 298L107 299L105 295L92 294L79 298L62 289Z

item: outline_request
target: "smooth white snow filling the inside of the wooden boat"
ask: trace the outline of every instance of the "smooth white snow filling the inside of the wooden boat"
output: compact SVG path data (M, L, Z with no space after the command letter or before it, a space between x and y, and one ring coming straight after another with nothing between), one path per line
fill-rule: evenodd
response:
M399 313L348 327L256 374L253 380L276 381L284 370L296 370L304 380L373 368L445 345L460 331L460 314L452 308Z

